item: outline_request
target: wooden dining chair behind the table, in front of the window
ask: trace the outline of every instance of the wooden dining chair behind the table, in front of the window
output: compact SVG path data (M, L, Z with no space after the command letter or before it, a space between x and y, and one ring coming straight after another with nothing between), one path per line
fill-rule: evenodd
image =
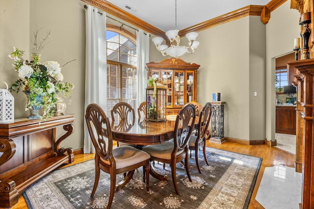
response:
M124 125L131 126L135 122L135 111L132 106L126 102L118 102L115 104L111 110L111 120L122 120ZM129 121L132 121L131 124L128 124ZM117 146L135 146L135 144L123 143L117 141Z

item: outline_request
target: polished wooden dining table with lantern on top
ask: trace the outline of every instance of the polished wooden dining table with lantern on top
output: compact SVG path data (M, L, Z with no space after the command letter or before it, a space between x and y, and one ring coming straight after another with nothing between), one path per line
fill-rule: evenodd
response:
M173 139L175 122L175 116L168 117L165 121L150 121L146 117L115 120L111 122L112 138L118 142L135 144L137 148L142 149L145 145L163 143ZM197 124L198 117L195 120L194 128ZM150 174L161 181L169 180L168 177L156 173L152 166Z

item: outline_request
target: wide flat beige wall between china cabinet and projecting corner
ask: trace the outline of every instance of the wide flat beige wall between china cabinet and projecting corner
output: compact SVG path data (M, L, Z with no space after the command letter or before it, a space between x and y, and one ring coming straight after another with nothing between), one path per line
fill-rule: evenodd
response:
M249 22L250 18L244 17L199 32L199 47L182 57L201 65L197 81L199 103L211 101L215 92L221 93L221 101L226 102L225 137L246 140L250 139Z

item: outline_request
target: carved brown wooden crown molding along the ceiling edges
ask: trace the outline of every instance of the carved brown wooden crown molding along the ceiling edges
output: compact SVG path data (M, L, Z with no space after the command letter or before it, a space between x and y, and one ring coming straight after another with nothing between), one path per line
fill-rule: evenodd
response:
M124 11L123 9L120 9L119 7L109 3L106 0L81 0L81 1L91 4L121 20L127 21L128 23L131 23L148 33L167 39L165 37L164 31L158 29L157 27L154 27L153 25L149 23L142 21L141 19L131 15L130 13ZM261 16L262 23L266 24L268 23L270 19L270 12L274 11L276 8L278 8L280 5L282 5L286 1L287 0L271 0L264 6L248 5L246 7L237 9L235 11L232 11L227 14L221 15L219 17L205 21L203 23L195 24L191 27L187 27L183 30L180 30L179 35L182 36L191 31L202 31L210 27L213 27L222 23L228 23L230 21L234 21L236 19L246 17L249 15Z

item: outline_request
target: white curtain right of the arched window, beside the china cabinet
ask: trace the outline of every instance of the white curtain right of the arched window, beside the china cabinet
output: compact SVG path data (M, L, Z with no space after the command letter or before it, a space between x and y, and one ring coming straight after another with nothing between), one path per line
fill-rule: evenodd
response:
M137 95L136 107L146 101L147 70L146 63L149 62L149 34L142 29L136 31L136 53L137 53Z

